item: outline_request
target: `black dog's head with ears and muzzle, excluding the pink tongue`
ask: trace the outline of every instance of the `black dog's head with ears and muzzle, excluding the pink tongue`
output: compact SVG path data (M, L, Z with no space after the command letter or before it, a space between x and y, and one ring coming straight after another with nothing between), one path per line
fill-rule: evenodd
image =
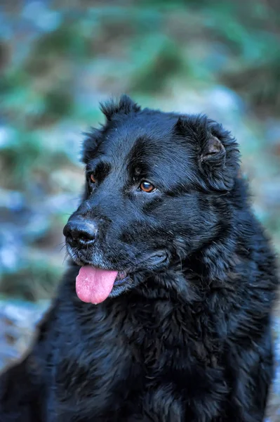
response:
M206 117L141 111L126 96L103 112L84 145L84 200L64 233L76 264L118 271L118 295L225 229L238 151Z

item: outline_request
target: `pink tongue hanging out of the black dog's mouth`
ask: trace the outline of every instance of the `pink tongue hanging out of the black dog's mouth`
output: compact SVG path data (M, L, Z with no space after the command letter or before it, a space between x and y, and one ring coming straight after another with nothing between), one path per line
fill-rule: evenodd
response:
M107 271L85 265L76 276L76 294L83 302L95 305L107 299L114 286L118 271Z

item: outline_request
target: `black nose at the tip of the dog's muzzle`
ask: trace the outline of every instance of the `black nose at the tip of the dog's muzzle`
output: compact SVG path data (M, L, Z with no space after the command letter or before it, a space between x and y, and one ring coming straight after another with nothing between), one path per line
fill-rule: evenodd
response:
M73 219L67 222L63 234L69 242L88 245L93 243L98 232L95 222L84 222L81 219Z

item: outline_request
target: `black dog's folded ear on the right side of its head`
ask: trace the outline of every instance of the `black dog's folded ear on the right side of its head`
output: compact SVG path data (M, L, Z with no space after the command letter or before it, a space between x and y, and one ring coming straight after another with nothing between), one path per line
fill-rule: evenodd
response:
M208 188L232 189L239 169L239 149L231 134L204 115L179 117L175 127L189 143L194 143L198 166Z

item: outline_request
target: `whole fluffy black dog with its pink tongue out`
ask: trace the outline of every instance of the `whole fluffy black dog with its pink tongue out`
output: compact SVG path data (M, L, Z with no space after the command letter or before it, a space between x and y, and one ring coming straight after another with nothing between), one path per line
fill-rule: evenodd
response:
M64 229L72 267L1 378L0 421L262 421L278 282L236 141L126 96L102 111Z

